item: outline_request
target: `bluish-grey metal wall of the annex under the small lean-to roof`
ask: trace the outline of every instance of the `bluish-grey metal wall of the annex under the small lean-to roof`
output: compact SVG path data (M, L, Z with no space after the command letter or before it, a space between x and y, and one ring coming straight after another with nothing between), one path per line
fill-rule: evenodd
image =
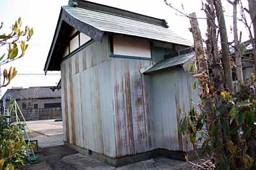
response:
M178 134L179 107L182 111L188 111L191 97L195 102L198 101L198 92L191 90L193 76L184 72L182 67L150 76L155 147L185 152L193 150L181 134Z

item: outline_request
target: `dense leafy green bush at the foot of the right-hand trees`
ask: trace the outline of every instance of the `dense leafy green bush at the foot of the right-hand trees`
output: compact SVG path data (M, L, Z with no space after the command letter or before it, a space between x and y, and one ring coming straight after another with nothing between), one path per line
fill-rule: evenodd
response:
M180 132L189 136L193 145L201 145L217 169L236 169L237 161L241 169L250 169L254 164L255 81L252 74L240 92L232 95L224 91L216 95L216 107L212 110L204 106L212 101L205 99L202 104L193 104L188 113L182 113ZM214 116L212 120L207 119L209 113ZM241 141L239 145L234 143L236 135Z

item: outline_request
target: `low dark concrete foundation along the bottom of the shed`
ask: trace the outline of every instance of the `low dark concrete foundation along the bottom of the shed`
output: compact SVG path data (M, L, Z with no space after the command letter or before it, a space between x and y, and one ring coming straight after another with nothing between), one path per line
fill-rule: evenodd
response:
M133 164L135 162L140 162L142 160L152 159L152 158L156 158L156 157L166 157L166 158L170 158L170 159L177 159L177 160L185 161L185 155L188 155L189 160L197 159L196 153L194 151L179 152L179 151L165 150L165 149L161 149L161 148L152 150L150 152L137 153L136 155L127 155L125 157L114 158L114 157L108 157L106 155L102 155L101 153L93 152L92 150L88 150L86 148L81 148L79 146L72 145L65 141L64 141L64 144L67 146L70 146L77 152L82 153L83 155L88 155L88 156L98 159L102 162L111 164L112 166L115 166L115 167L120 167L120 166L124 166L127 164ZM200 153L201 151L197 150L196 152Z

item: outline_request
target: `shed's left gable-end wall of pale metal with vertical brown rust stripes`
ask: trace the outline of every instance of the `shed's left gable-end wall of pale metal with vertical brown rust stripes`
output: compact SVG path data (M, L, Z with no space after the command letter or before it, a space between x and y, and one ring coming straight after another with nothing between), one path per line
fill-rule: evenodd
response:
M115 157L114 92L109 50L108 36L104 36L102 43L95 41L64 60L61 73L67 80L63 93L67 91L64 101L69 124L64 126L70 131L70 143Z

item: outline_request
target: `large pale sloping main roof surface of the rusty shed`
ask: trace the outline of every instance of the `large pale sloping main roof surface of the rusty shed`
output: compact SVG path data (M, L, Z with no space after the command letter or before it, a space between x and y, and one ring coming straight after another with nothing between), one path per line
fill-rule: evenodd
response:
M156 39L179 45L193 45L188 39L182 38L182 36L160 25L149 24L140 20L111 15L100 11L74 8L72 6L62 6L62 9L67 11L72 17L77 18L77 20L91 25L102 32L114 32L130 36Z

